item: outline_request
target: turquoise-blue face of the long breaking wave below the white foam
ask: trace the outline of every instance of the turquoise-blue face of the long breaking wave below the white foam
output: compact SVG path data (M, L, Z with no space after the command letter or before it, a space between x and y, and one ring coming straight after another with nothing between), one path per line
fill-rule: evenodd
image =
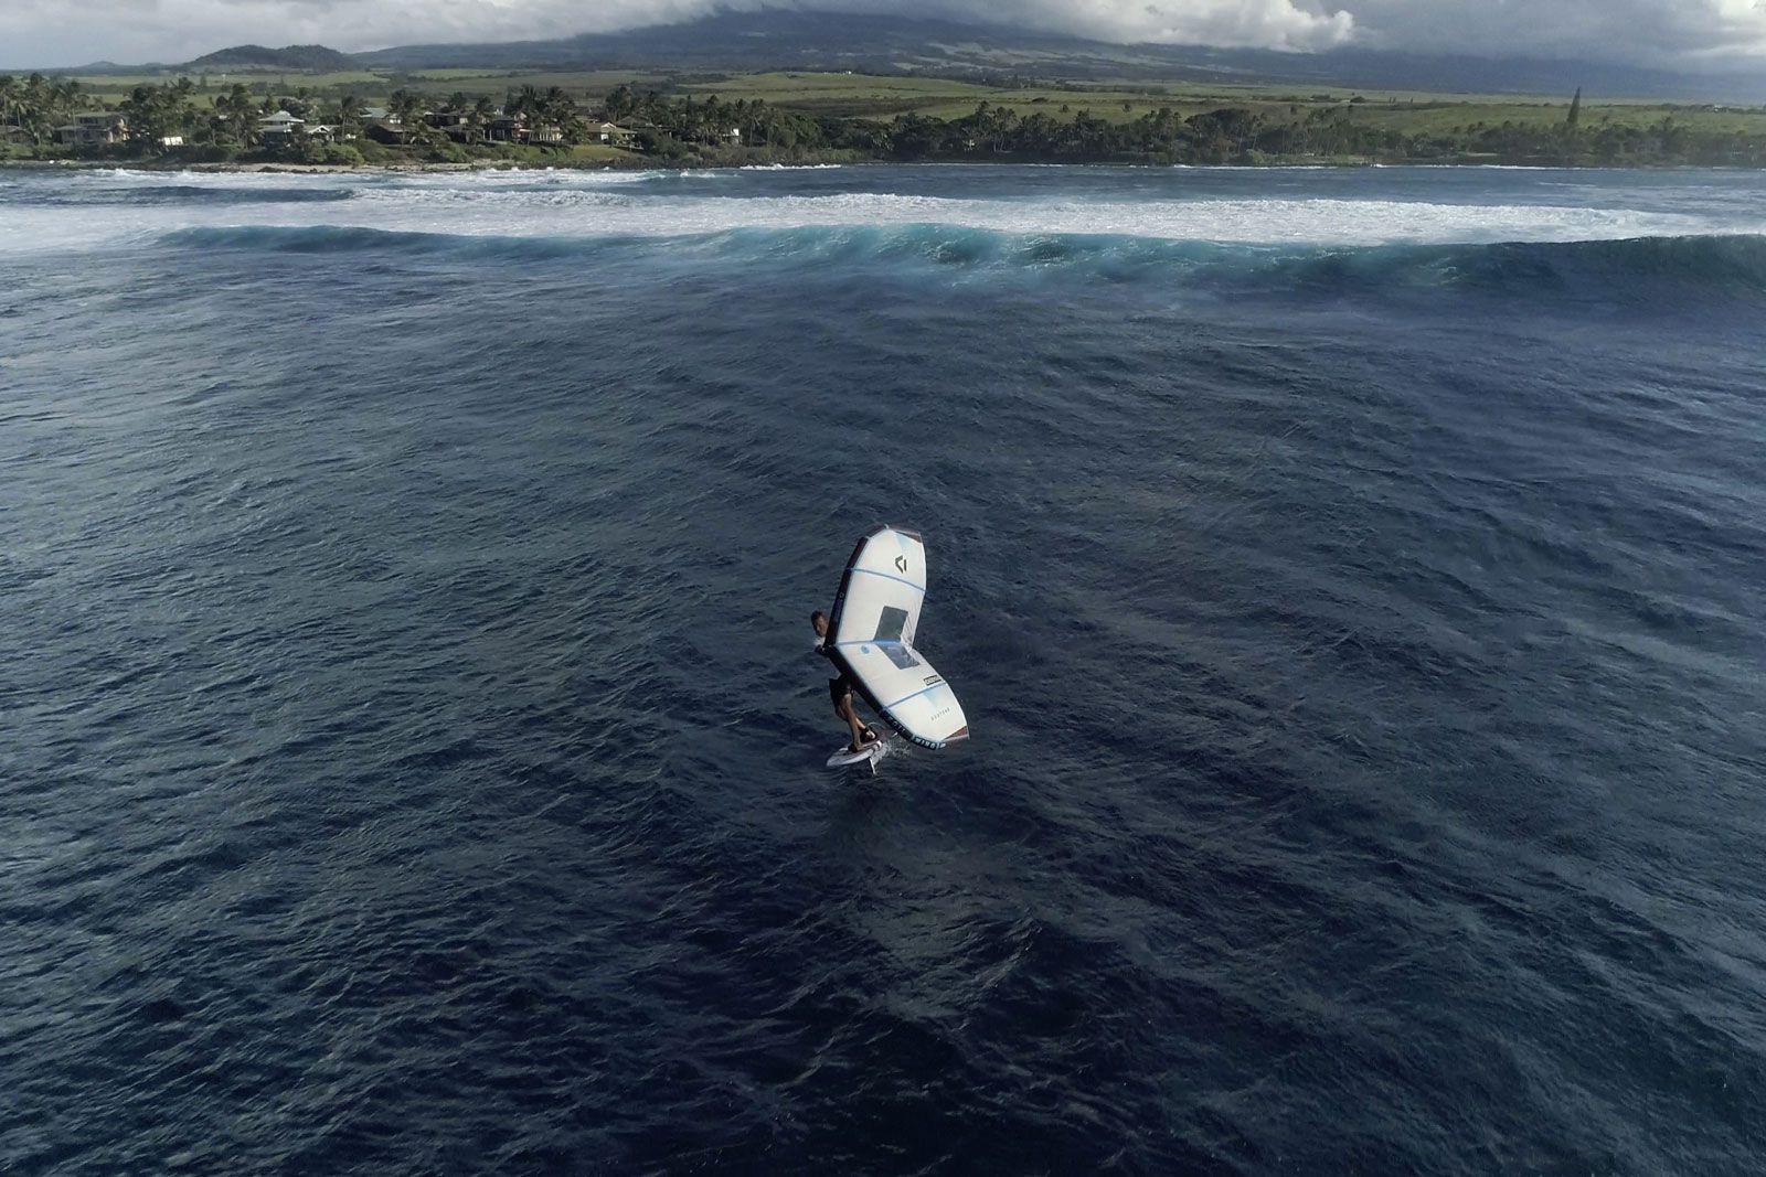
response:
M961 226L731 229L689 236L456 236L339 226L192 228L177 249L387 254L509 261L691 266L844 266L913 274L1118 282L1312 298L1423 291L1505 298L1766 295L1766 236L1646 236L1616 242L1268 247L1123 235L1024 235Z

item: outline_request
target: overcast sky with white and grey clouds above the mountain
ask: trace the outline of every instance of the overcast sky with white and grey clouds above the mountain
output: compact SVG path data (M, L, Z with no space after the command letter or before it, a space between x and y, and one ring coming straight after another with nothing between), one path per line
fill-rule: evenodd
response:
M1335 7L1344 4L1346 7ZM775 7L781 7L774 0ZM0 69L184 62L230 44L378 49L526 41L687 19L719 0L0 0ZM1766 69L1766 0L800 0L1104 41L1314 51L1355 44ZM78 14L78 16L74 16Z

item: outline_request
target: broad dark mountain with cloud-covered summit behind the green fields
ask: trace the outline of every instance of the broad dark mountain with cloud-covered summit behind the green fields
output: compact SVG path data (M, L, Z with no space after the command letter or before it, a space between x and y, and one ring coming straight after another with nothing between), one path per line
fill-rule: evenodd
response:
M358 53L380 69L851 69L947 76L1220 81L1462 94L1558 94L1577 86L1602 97L1766 101L1766 76L1678 74L1595 62L1480 58L1332 49L1215 49L1111 44L1003 25L761 9L715 12L680 25L500 44L417 44Z

